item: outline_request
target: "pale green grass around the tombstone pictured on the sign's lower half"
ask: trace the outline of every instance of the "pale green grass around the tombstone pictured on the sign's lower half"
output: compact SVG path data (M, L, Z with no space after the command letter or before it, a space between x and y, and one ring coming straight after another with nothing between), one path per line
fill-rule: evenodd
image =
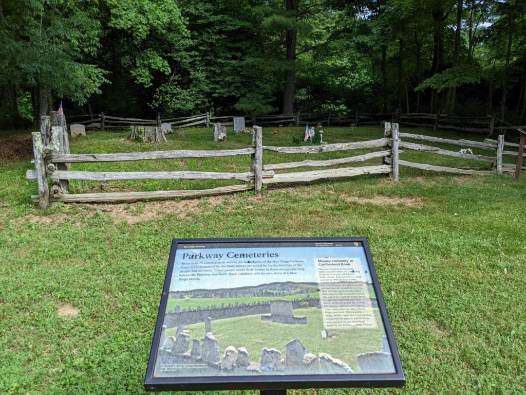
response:
M354 372L360 372L356 357L365 352L382 349L383 327L380 314L376 319L379 324L375 329L331 329L332 338L322 339L323 320L321 310L317 308L296 309L294 315L307 317L306 325L290 325L261 321L261 314L246 317L214 320L212 331L219 340L219 352L222 354L229 345L236 348L245 347L252 362L259 363L261 350L264 347L280 350L285 358L286 344L297 338L307 350L318 355L326 352L331 357L341 359L349 364ZM167 330L167 336L173 336L177 328ZM191 338L202 339L205 324L185 325Z

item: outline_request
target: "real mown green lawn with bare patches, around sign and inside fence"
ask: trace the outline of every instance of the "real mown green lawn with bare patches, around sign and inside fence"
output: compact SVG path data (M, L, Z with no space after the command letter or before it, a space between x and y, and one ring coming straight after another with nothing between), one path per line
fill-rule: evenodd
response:
M265 145L292 145L292 135L303 132L278 129L279 135L272 134L275 128L264 129ZM2 139L12 136L17 134ZM380 126L330 127L324 139L382 136ZM184 141L170 135L167 144L140 145L125 137L124 132L88 132L85 139L70 141L71 151L234 149L251 140L229 132L227 142L216 144L206 129L186 130ZM264 164L345 156L349 152L266 151ZM489 163L421 152L400 157L489 169ZM263 199L244 192L161 202L60 204L42 212L29 199L37 193L36 181L25 179L29 160L0 163L0 393L143 393L171 239L294 236L367 236L407 376L401 390L301 390L295 395L526 393L526 175L514 183L510 175L457 176L400 167L399 183L366 175L272 185ZM237 156L74 164L72 170L245 172L249 163L249 156ZM104 192L231 183L236 182L70 185L76 192Z

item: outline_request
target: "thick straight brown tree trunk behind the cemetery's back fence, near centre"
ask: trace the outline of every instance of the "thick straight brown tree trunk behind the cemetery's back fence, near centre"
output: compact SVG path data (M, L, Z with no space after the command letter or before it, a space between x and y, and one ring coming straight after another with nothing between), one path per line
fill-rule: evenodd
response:
M296 42L298 31L299 0L287 0L287 13L294 19L292 28L287 29L285 45L287 53L287 70L285 71L285 86L283 92L282 114L294 113L294 79L296 76Z

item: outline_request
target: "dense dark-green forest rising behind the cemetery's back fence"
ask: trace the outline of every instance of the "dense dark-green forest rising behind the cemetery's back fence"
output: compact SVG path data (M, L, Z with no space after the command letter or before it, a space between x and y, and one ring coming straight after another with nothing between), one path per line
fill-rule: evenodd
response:
M0 128L68 115L526 122L520 0L0 0Z

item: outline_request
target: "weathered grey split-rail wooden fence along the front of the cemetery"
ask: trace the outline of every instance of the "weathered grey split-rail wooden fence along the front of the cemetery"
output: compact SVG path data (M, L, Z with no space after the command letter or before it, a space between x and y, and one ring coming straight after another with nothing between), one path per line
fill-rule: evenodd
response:
M45 122L43 122L44 124ZM362 174L390 174L393 180L398 181L399 167L408 166L417 169L459 173L459 174L502 174L509 172L503 165L504 156L517 156L514 151L504 151L504 136L500 135L497 141L487 140L477 142L470 140L450 140L439 137L425 136L412 133L400 133L397 123L386 123L385 134L381 139L322 144L311 146L268 146L262 144L262 128L253 126L252 144L250 147L236 150L174 150L153 152L131 152L131 153L100 153L100 154L71 154L67 143L67 133L63 126L51 126L50 138L47 132L47 124L41 132L33 133L33 147L35 154L35 170L27 171L28 179L36 179L38 182L38 195L31 196L38 201L42 209L47 209L50 202L115 202L136 201L145 199L159 199L183 196L202 196L211 194L232 193L254 189L258 195L262 193L262 184L308 182L320 179L333 179L338 177L351 177ZM494 156L470 154L444 150L436 146L429 146L406 141L425 141L432 143L444 143L472 147L490 151ZM275 164L262 164L263 152L272 151L284 154L317 154L324 152L348 151L358 149L380 149L366 154L343 157L330 160L304 160L300 162L286 162ZM448 155L471 159L476 161L490 162L494 165L494 171L480 171L460 167L436 166L425 163L414 163L400 159L400 153L404 150L425 151L433 154ZM104 163L120 161L140 161L158 159L185 159L225 157L235 155L251 155L250 169L242 173L230 172L195 172L195 171L173 171L173 172L91 172L68 170L67 164L71 163ZM382 164L360 167L338 167L336 169L322 169L300 172L276 173L276 171L295 169L299 167L331 167L351 163L359 163L373 158L382 158ZM491 169L491 168L490 168ZM114 181L114 180L238 180L244 183L229 186L220 186L205 190L181 190L181 191L149 191L149 192L107 192L107 193L69 193L69 180L86 181ZM51 190L48 180L52 181Z

